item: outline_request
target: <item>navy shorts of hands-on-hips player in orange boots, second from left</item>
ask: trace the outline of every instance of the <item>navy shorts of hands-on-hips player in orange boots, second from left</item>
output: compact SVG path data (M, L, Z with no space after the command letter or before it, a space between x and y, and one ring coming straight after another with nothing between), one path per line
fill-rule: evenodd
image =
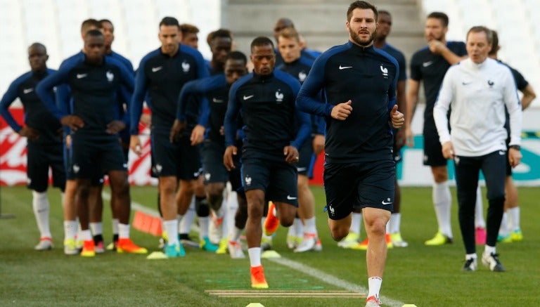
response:
M73 178L94 180L109 171L127 171L122 145L115 136L74 133L71 138Z

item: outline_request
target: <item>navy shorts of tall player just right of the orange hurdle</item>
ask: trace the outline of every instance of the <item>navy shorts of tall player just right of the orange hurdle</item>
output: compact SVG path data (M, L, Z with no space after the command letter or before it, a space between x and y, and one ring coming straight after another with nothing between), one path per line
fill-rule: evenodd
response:
M152 167L156 176L176 176L181 180L198 178L201 167L199 148L191 146L188 136L171 143L168 132L152 133Z

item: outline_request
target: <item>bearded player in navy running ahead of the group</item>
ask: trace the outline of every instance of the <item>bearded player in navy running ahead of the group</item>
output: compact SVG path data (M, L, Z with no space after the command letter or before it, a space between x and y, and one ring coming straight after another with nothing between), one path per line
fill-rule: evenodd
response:
M349 41L317 58L297 98L300 110L326 117L324 188L334 240L347 236L352 211L362 209L368 235L366 306L380 306L386 223L394 202L392 126L404 124L395 105L399 65L373 48L377 15L366 1L350 4ZM316 99L321 90L326 103Z

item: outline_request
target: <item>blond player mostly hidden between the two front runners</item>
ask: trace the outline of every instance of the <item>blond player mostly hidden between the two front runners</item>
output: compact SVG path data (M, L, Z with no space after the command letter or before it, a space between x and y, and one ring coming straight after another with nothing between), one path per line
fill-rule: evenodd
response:
M278 51L283 58L283 64L278 66L278 70L287 72L302 84L311 70L313 60L302 55L300 36L293 27L287 27L279 33ZM296 166L298 171L298 215L305 225L302 227L304 229L302 242L295 247L295 252L311 250L319 252L322 250L321 240L319 240L315 226L315 200L313 193L309 190L308 174L313 173L316 155L319 155L324 149L325 125L322 117L311 115L310 120L311 135L298 149L300 160ZM295 223L302 223L302 221L295 218ZM289 230L292 228L295 228L294 224Z

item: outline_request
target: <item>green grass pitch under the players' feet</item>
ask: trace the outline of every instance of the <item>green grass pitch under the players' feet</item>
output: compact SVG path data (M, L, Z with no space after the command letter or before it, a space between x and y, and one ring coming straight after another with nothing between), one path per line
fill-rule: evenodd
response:
M323 213L323 189L313 187L323 252L295 254L278 229L274 249L283 259L302 263L345 282L367 287L365 252L340 249L330 238ZM105 188L108 190L108 188ZM505 273L480 267L463 273L464 248L452 190L454 244L425 247L436 232L431 188L402 188L401 235L409 247L388 251L381 294L416 306L536 306L540 302L539 188L520 188L522 242L498 244ZM484 190L485 193L485 190ZM134 202L156 209L155 187L132 187ZM58 190L51 190L51 231L56 247L36 252L39 233L32 214L32 195L24 187L1 187L0 306L363 306L342 284L263 259L269 291L250 289L249 261L233 260L188 248L181 259L149 261L145 256L105 252L93 259L65 256L63 217ZM103 231L110 242L110 207L105 202ZM484 200L484 209L487 201ZM158 238L131 230L137 244L158 250ZM477 254L483 251L479 247ZM247 254L247 253L246 253ZM282 296L276 293L280 291ZM221 295L215 295L215 294ZM311 293L311 295L310 295ZM329 295L326 295L330 293ZM229 297L243 294L247 296ZM347 294L347 295L345 295ZM329 297L328 297L329 296ZM385 301L383 301L383 306Z

